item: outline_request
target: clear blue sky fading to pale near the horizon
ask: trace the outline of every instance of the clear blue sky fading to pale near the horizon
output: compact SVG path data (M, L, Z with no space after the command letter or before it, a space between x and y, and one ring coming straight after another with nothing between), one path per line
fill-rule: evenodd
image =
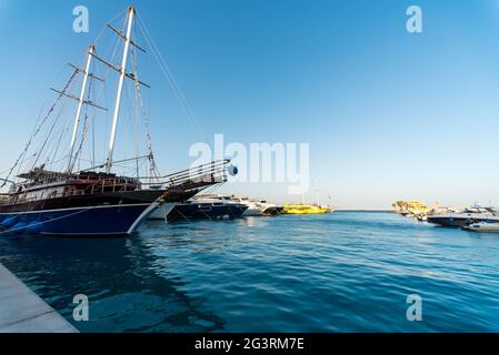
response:
M134 1L202 134L158 68L151 125L162 171L190 164L190 144L309 142L311 179L340 207L499 204L499 2ZM90 33L72 31L72 9ZM0 0L0 108L7 169L22 150L61 68L130 1ZM406 31L419 4L423 33ZM151 59L151 67L152 67ZM201 136L202 135L202 136ZM223 192L280 202L282 184Z

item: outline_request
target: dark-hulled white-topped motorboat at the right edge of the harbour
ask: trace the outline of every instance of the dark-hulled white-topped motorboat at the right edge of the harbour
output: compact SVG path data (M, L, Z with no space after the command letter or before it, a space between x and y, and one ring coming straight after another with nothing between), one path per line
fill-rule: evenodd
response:
M441 226L463 227L478 222L499 223L499 213L493 207L472 206L458 213L428 215L427 221Z

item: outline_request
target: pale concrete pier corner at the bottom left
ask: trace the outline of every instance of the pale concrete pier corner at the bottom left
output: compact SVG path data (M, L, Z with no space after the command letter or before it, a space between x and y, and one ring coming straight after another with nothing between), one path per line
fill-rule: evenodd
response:
M78 333L0 264L0 333Z

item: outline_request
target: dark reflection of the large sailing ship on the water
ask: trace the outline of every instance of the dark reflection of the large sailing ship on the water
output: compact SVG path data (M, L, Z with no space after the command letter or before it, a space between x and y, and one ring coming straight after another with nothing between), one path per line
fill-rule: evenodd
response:
M0 241L0 262L81 332L212 332L224 321L183 282L154 264L141 235L129 239L53 239L31 235ZM72 320L72 296L86 294L90 321Z

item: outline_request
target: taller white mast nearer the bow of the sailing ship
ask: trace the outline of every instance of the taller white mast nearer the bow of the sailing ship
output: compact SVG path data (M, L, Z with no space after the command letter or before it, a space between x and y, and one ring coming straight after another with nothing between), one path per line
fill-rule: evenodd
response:
M121 61L120 81L118 83L118 92L116 95L114 114L112 116L111 136L109 138L108 160L107 160L107 166L106 166L107 173L111 172L112 152L114 150L114 140L116 140L116 129L118 125L118 116L120 114L121 93L123 91L124 78L127 75L128 50L130 48L130 36L131 36L131 29L132 29L134 13L136 13L136 9L133 7L128 8L128 28L127 28L127 36L124 37L123 59Z

